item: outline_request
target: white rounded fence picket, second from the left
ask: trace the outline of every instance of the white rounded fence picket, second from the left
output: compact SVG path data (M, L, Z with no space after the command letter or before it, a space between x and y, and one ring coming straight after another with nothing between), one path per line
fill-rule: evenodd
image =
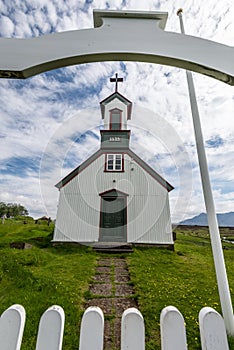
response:
M40 319L36 350L61 350L64 322L65 315L61 306L48 308Z

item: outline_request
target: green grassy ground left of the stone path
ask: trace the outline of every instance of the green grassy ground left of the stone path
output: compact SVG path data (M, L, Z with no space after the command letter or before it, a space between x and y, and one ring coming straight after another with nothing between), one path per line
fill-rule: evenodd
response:
M48 242L52 230L46 225L0 225L0 313L14 303L26 309L22 350L35 349L40 316L53 304L65 311L64 349L78 348L83 295L94 273L96 257L86 247L51 247ZM34 246L10 249L11 241L29 241Z

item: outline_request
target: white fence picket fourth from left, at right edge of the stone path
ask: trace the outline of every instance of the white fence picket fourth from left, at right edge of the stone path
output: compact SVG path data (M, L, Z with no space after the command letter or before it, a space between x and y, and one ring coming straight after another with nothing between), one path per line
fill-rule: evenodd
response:
M121 350L145 350L144 319L134 307L125 310L122 315Z

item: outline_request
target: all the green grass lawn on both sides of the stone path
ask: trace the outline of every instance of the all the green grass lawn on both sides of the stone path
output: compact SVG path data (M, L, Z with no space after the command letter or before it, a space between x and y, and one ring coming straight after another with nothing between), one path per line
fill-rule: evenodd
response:
M99 257L88 247L50 244L53 225L33 221L0 223L0 314L10 305L26 309L22 350L35 349L42 313L57 304L65 311L64 350L78 348L85 295ZM226 236L229 232L225 231ZM31 249L9 247L28 242ZM232 299L234 299L234 246L225 244ZM146 325L146 349L160 349L159 316L173 305L184 315L189 349L200 349L198 313L203 306L220 312L213 258L207 229L177 229L175 251L134 248L127 262ZM230 349L234 349L232 341Z

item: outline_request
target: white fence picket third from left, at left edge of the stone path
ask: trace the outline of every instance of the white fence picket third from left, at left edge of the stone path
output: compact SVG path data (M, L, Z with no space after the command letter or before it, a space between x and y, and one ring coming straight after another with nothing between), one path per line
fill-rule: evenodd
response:
M79 350L103 350L104 315L96 306L90 306L82 317Z

